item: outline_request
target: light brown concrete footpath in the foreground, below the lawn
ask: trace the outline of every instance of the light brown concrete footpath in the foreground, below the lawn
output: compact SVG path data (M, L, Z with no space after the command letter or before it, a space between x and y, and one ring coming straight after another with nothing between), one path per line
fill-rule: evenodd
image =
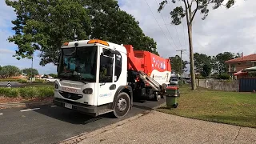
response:
M60 143L256 144L256 129L151 111Z

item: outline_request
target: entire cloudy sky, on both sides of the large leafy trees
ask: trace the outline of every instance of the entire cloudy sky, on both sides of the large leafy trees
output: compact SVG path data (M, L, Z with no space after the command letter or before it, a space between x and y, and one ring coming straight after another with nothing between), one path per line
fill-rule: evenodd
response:
M154 38L157 42L158 53L163 58L180 54L176 50L186 50L182 58L189 60L189 45L186 29L186 20L179 26L170 24L170 10L175 6L183 6L181 2L170 3L158 13L158 4L162 0L118 0L121 10L132 14L142 28L144 34ZM256 13L254 0L236 0L236 4L226 10L220 7L212 10L206 20L198 11L193 22L194 53L216 55L225 51L242 53L244 55L256 53ZM30 59L17 60L12 57L18 46L7 41L14 34L11 21L16 18L14 10L0 0L0 66L14 65L20 69L28 68ZM39 66L40 58L34 56L33 67L40 74L56 74L56 66L48 64Z

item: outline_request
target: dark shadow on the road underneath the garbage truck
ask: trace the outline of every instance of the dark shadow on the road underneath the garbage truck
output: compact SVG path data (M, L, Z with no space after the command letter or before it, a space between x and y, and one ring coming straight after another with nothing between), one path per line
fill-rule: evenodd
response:
M132 110L130 110L130 112L127 114L125 118L129 118L130 116L133 116L135 114L143 113L145 110L154 110L153 109L154 106L158 106L162 104L162 102L135 101ZM87 114L82 114L78 111L69 110L59 106L50 107L51 105L53 104L51 103L43 106L26 104L26 108L24 109L28 109L28 108L33 109L34 107L40 107L41 108L40 110L34 110L34 111L39 114L46 115L47 117L58 119L62 122L68 122L68 123L78 124L78 125L79 124L85 125L90 122L95 122L103 118L104 118L104 121L113 121L113 120L118 121L118 120L125 119L125 118L114 118L113 114L111 113L102 114L98 117L93 117Z

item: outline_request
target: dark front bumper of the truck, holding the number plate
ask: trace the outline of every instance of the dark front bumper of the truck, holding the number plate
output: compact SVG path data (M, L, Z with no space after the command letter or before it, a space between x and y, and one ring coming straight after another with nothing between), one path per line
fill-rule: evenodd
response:
M61 106L61 107L65 107L65 103L69 103L72 105L72 109L70 110L77 110L79 112L82 112L94 117L99 115L99 110L102 110L103 107L109 107L109 106L90 106L90 105L86 105L78 102L67 101L61 98L54 98L53 102L54 102L54 105Z

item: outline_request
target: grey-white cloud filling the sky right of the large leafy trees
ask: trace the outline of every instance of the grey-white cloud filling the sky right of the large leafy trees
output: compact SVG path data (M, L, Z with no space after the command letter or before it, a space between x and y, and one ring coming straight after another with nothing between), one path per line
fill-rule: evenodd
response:
M157 12L158 3L162 0L121 0L120 2L122 2L121 9L134 15L144 33L158 43L159 54L168 58L179 54L177 49L186 49L183 58L189 60L186 24L170 25L170 10L175 6L181 6L180 2L174 5L169 1L162 10L162 15ZM224 7L217 10L210 9L210 14L204 21L201 19L203 15L198 12L193 22L194 52L208 55L216 55L224 51L256 53L254 48L256 46L256 14L253 13L255 6L256 1L237 0L229 10ZM185 19L183 22L186 22Z

